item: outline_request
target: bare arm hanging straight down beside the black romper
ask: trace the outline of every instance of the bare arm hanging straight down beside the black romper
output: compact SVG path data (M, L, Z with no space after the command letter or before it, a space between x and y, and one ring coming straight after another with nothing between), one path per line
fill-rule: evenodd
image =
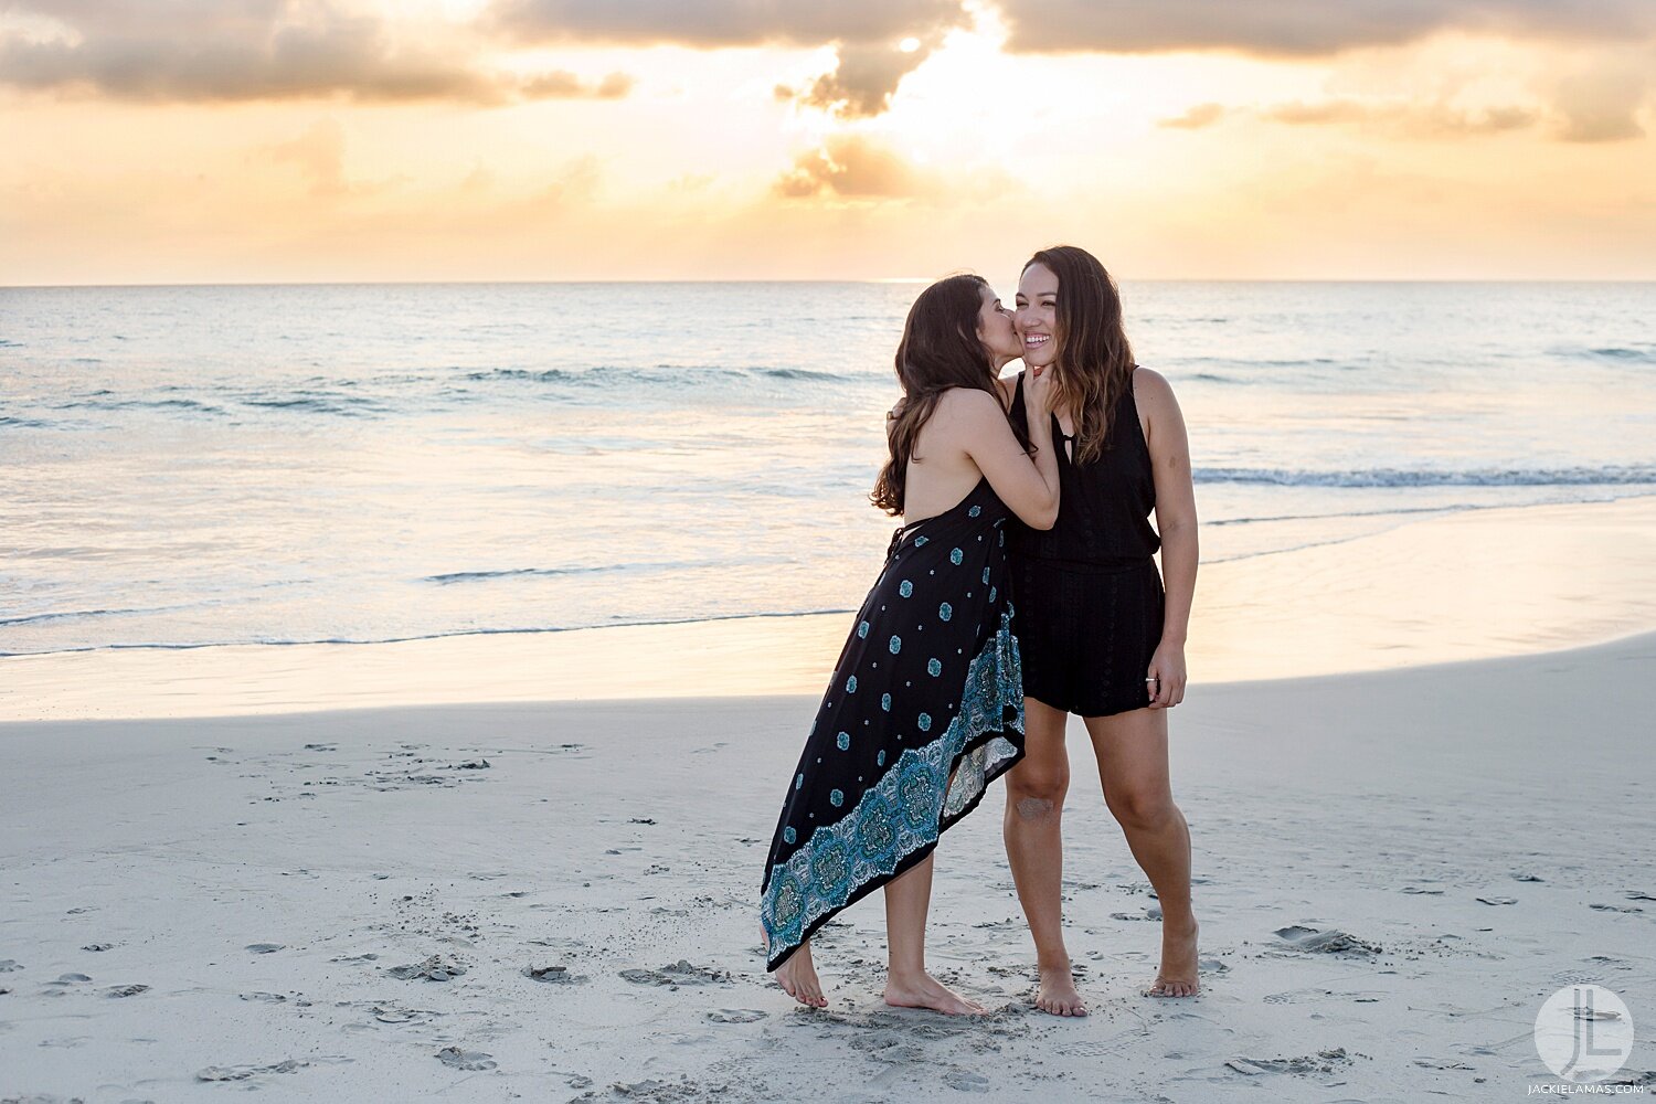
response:
M1151 684L1156 692L1151 708L1166 708L1184 700L1184 639L1191 627L1196 564L1201 558L1196 541L1196 487L1191 483L1191 442L1172 387L1156 372L1141 367L1133 372L1133 397L1144 412L1144 440L1156 477L1156 530L1161 533L1166 588L1161 644L1144 674L1158 679Z

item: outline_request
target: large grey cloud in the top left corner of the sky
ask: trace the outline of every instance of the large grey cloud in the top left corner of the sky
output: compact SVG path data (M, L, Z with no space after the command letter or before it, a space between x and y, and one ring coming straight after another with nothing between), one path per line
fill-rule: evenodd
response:
M46 17L75 31L0 35L0 84L20 89L136 101L502 103L616 98L631 88L624 74L585 84L568 73L492 73L464 51L402 45L378 18L303 0L0 0L0 12Z

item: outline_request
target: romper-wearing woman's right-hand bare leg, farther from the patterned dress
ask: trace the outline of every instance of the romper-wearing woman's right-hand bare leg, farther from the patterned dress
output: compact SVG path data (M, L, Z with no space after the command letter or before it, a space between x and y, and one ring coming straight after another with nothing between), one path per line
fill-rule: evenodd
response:
M1121 824L1133 857L1161 904L1161 970L1151 996L1194 996L1196 914L1191 910L1191 829L1172 803L1167 775L1167 712L1136 708L1088 717L1105 804Z

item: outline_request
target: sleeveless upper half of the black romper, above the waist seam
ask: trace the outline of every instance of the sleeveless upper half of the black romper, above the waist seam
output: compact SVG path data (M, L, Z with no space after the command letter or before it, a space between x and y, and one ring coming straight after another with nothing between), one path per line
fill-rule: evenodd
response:
M1022 374L1012 397L1012 417L1020 424L1027 417ZM1128 568L1153 556L1161 548L1149 523L1156 508L1156 477L1131 381L1116 402L1098 460L1075 463L1070 458L1065 440L1073 439L1058 429L1057 414L1052 415L1052 440L1058 450L1058 523L1043 531L1013 518L1007 525L1007 551L1083 571Z

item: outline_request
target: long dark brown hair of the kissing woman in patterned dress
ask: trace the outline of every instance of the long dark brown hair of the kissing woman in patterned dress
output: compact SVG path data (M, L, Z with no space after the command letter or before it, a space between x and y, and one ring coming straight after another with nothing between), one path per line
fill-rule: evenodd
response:
M921 291L909 308L894 361L903 397L886 415L886 445L891 455L868 497L886 513L903 513L909 460L921 462L914 455L914 442L946 391L970 387L1000 402L995 364L977 338L977 313L984 308L987 286L987 280L972 273L944 276ZM1028 434L1022 427L1012 425L1012 432L1028 447Z

